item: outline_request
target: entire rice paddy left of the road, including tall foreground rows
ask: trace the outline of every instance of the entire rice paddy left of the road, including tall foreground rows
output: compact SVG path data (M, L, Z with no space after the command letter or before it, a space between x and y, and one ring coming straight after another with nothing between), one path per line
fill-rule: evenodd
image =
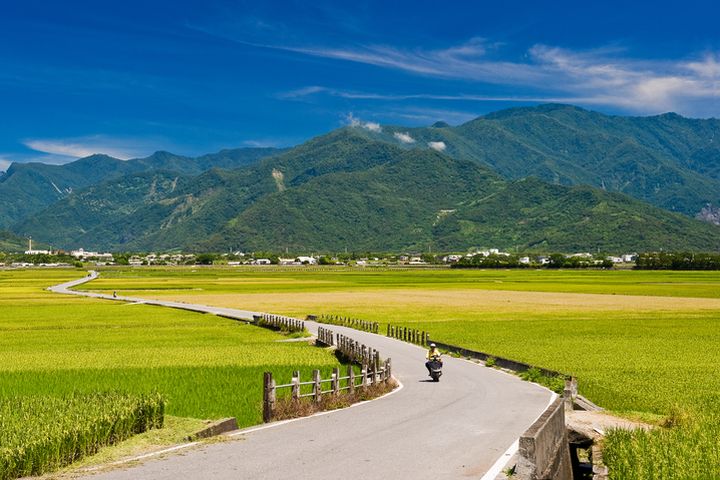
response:
M70 408L73 399L161 398L171 424L199 428L201 422L177 417L234 416L248 426L262 422L264 371L290 379L296 369L306 377L315 368L329 376L339 366L334 355L307 342L283 342L287 337L273 331L214 315L45 291L82 275L0 270L0 478L46 471L128 436L127 429L106 428L132 417L113 410L118 402L96 402L97 414L83 416ZM76 430L51 420L66 410ZM153 422L162 424L162 416Z

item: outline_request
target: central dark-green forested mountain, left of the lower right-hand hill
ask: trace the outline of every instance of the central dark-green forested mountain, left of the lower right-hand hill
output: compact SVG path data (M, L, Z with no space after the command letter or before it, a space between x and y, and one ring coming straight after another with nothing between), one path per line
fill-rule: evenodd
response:
M205 248L398 249L434 243L432 225L503 181L469 161L400 152L364 171L332 173L268 195L211 237Z

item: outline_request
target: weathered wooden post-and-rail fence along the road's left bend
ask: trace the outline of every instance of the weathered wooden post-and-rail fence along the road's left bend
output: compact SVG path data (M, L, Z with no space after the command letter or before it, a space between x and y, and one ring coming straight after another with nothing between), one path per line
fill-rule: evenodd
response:
M331 330L323 327L318 329L318 343L334 346L350 362L360 365L360 372L355 373L353 365L348 365L347 375L340 376L340 369L334 368L330 378L321 378L320 370L313 370L312 380L302 381L300 372L293 372L290 383L278 385L271 372L265 372L263 381L263 421L273 420L277 403L278 390L290 390L290 400L299 402L303 398L311 398L319 404L323 396L339 396L342 393L354 394L357 389L364 390L373 385L386 383L392 378L392 361L380 359L380 352L360 344L345 335L333 335ZM329 388L325 385L329 384ZM303 386L311 386L310 391L303 393Z

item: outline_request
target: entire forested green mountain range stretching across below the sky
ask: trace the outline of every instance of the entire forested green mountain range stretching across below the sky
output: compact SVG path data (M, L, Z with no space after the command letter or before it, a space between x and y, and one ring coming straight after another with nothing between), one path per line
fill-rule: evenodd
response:
M112 250L718 250L720 121L567 105L287 150L13 164L0 229ZM706 218L712 218L712 216Z

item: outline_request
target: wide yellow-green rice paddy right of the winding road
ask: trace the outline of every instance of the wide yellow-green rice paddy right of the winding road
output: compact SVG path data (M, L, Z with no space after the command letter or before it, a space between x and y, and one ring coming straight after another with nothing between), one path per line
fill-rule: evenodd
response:
M720 476L717 439L697 434L718 428L716 415L697 413L720 392L718 272L148 268L103 271L85 288L427 330L575 375L583 395L622 415L684 419L609 436L616 478Z

